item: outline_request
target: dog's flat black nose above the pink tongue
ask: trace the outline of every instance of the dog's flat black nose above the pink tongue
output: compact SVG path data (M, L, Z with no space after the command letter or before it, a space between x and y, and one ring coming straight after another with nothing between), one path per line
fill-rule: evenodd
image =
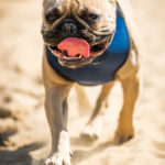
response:
M62 24L62 31L65 33L76 33L77 25L73 22L65 22Z

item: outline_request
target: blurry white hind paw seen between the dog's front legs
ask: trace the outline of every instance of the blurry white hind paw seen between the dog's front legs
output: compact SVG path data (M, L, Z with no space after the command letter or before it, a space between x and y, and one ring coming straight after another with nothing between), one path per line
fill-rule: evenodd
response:
M82 132L80 133L80 138L97 140L101 133L102 123L100 121L95 121L92 123L87 124Z

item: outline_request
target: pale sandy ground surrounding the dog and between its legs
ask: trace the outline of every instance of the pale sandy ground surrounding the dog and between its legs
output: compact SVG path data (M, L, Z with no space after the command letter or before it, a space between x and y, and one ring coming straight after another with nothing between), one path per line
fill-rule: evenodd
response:
M78 107L69 96L69 125L75 165L165 164L165 1L131 0L145 47L143 87L134 114L135 138L116 146L112 141L121 107L120 85L113 89L102 136L84 142L86 123L99 87L85 88L90 105ZM48 150L50 132L43 108L41 78L42 0L0 0L0 165L38 164ZM92 98L92 99L91 99Z

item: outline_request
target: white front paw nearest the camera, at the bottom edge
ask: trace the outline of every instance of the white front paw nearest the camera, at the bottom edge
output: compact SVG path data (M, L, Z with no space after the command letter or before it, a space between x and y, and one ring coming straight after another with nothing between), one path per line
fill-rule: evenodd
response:
M70 165L70 154L55 153L45 161L44 165Z

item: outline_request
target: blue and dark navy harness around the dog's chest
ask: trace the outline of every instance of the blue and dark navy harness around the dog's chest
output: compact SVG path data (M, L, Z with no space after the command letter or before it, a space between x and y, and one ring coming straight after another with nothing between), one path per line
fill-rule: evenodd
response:
M105 53L96 57L91 64L80 68L67 68L58 63L57 57L46 46L47 59L53 69L67 80L77 81L85 86L95 86L113 80L116 73L125 63L129 53L130 37L119 7L113 40Z

